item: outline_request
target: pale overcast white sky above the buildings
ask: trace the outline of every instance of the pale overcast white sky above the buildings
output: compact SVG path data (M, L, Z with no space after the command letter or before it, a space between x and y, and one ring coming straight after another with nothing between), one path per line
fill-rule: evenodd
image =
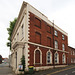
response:
M28 2L50 21L68 33L68 45L75 48L75 0L0 0L0 55L8 57L8 32L10 21L18 17L23 1Z

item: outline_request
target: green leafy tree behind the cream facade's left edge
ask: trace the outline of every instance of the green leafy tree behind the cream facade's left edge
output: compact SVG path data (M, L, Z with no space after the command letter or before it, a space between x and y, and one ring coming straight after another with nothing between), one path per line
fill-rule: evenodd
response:
M11 36L13 33L13 29L15 27L16 21L17 21L17 18L15 18L13 21L10 21L9 28L7 28L7 31L9 34L9 37L8 37L9 42L7 42L7 47L10 47L10 50L11 50Z

